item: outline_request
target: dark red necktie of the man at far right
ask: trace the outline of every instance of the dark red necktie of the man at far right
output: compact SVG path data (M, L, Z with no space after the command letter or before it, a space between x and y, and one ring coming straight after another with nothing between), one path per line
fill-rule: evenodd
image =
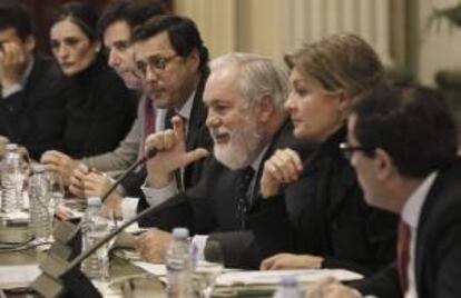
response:
M403 294L409 289L410 234L410 226L401 219L399 222L398 266Z

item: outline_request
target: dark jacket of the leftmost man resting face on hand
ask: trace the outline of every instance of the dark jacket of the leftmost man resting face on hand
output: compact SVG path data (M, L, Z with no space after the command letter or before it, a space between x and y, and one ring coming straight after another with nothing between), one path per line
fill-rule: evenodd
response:
M62 149L68 81L59 67L36 54L22 91L0 99L0 135L24 146L33 159Z

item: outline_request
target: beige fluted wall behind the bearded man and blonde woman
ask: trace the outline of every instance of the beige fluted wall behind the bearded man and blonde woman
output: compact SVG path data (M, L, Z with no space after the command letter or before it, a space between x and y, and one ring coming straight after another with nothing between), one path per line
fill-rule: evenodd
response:
M402 50L391 49L404 38L391 40L392 32L403 31L403 14L390 16L391 3L401 1L176 0L175 11L196 21L212 58L246 51L282 60L305 40L345 30L365 38L391 66L403 61Z

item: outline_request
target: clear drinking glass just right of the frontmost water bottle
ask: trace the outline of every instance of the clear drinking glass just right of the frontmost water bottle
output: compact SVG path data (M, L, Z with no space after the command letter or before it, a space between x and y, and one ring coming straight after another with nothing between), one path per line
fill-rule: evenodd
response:
M194 248L193 248L194 250ZM194 291L203 298L209 298L216 284L216 278L224 270L223 249L219 242L208 240L206 251L208 260L196 260L193 267Z

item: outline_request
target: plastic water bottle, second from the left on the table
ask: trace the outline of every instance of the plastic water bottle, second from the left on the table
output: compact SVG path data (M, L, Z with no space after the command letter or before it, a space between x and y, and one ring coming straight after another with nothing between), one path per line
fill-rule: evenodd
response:
M51 235L53 210L49 208L46 168L42 165L33 165L32 172L29 182L29 231L37 241L48 241Z

